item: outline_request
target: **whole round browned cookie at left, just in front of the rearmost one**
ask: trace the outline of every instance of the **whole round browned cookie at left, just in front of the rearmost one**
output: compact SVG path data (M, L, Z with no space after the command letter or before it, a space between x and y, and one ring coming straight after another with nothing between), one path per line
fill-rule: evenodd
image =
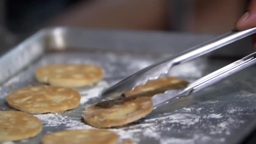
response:
M6 96L11 107L32 114L74 109L80 99L80 93L72 88L47 85L21 88Z

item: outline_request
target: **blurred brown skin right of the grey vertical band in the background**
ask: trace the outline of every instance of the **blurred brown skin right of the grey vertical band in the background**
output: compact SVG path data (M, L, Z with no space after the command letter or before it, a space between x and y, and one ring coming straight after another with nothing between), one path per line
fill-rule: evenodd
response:
M195 15L189 31L221 34L235 28L247 0L194 0Z

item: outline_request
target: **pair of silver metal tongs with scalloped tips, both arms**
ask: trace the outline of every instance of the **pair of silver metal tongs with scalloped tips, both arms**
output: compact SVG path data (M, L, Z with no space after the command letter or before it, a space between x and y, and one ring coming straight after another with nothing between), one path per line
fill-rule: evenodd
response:
M101 98L103 99L115 99L125 91L130 91L138 85L143 85L147 83L148 80L155 80L160 75L166 74L169 70L178 64L183 62L189 61L191 59L195 59L199 56L202 56L206 53L214 51L218 48L221 48L225 45L233 43L237 40L240 40L244 37L252 35L256 32L256 27L247 29L244 31L237 31L232 30L230 32L225 33L219 37L214 38L213 40L209 40L201 45L197 45L179 53L176 56L170 56L162 61L159 61L155 64L150 65L140 71L134 73L133 75L126 77L125 79L121 80L119 83L113 85L112 87L108 88L107 90L101 93ZM255 63L254 57L256 56L255 53L240 59L239 61L235 61L232 64L229 64L226 67L223 67L205 77L196 80L195 82L189 84L187 88L182 90L171 90L165 92L165 96L163 94L157 94L152 97L154 107L158 107L160 104L163 104L173 97L181 96L181 95L189 95L191 93L195 93L197 91L202 90L224 78L243 70L252 64ZM181 94L182 93L182 94ZM166 96L168 95L168 96Z

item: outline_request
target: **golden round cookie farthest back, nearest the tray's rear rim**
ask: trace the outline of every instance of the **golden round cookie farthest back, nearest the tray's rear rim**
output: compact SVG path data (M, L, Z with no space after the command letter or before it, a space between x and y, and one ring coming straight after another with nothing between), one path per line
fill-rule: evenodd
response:
M35 71L40 83L64 87L82 87L98 82L103 77L100 67L90 64L52 64Z

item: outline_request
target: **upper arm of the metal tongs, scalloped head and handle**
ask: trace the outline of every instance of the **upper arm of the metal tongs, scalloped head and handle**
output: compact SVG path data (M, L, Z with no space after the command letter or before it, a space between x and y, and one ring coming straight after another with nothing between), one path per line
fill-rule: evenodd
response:
M211 51L228 45L229 43L233 43L244 37L252 35L255 32L256 28L251 28L244 31L233 30L231 32L227 32L224 35L216 37L213 40L209 40L208 42L205 42L201 45L192 47L176 56L170 56L167 59L141 69L139 72L136 72L133 75L120 81L119 83L113 85L112 87L105 90L101 94L101 97L104 99L114 99L116 96L121 96L121 94L125 91L130 91L138 85L147 83L148 80L155 80L160 75L168 73L168 71L177 64L181 64L183 62L202 56L206 53L210 53Z

